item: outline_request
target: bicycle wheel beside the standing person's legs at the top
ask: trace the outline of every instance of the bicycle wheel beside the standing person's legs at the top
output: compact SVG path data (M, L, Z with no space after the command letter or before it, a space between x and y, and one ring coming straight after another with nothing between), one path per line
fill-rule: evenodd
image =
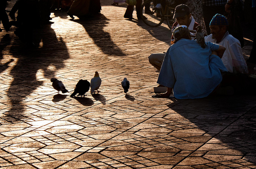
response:
M164 22L164 10L152 10L155 5L155 0L147 0L141 6L141 19L147 26L157 27Z

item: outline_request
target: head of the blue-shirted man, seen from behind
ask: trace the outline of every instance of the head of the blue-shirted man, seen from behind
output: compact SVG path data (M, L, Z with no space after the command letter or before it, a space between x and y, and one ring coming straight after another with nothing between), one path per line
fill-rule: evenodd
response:
M178 42L178 40L182 38L191 40L190 32L188 30L188 27L185 25L181 25L175 28L172 32L172 35L175 39L174 43Z

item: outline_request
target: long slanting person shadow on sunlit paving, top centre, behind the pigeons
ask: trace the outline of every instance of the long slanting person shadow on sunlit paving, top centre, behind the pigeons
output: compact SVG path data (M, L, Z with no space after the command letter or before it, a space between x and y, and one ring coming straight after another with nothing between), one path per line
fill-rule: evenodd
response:
M103 14L95 14L92 18L71 20L81 24L94 44L96 44L104 54L109 56L126 56L123 51L113 42L109 32L104 31L104 27L109 23Z

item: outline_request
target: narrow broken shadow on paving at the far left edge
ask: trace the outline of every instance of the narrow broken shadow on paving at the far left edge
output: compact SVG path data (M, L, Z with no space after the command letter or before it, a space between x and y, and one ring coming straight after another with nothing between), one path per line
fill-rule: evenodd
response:
M6 46L10 45L11 39L9 34L5 34L4 37L0 41L0 60L3 60L3 50L6 48ZM9 67L9 64L13 62L14 59L10 59L8 62L5 62L4 64L0 64L0 73L4 72Z

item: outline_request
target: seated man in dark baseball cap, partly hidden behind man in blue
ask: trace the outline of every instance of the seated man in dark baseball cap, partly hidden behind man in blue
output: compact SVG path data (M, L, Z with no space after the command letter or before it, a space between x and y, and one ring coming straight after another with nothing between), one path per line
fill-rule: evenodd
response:
M193 18L193 16L191 16L190 10L187 5L181 4L176 6L173 18L176 18L177 21L172 26L172 32L178 26L185 25L193 34L191 38L195 39L195 33L197 31L196 27L199 26L199 24L195 22L195 19ZM173 36L172 36L172 42L174 42ZM165 55L164 53L151 54L148 57L148 60L150 64L152 64L152 66L154 66L157 70L160 71L163 60L164 60L164 55Z

